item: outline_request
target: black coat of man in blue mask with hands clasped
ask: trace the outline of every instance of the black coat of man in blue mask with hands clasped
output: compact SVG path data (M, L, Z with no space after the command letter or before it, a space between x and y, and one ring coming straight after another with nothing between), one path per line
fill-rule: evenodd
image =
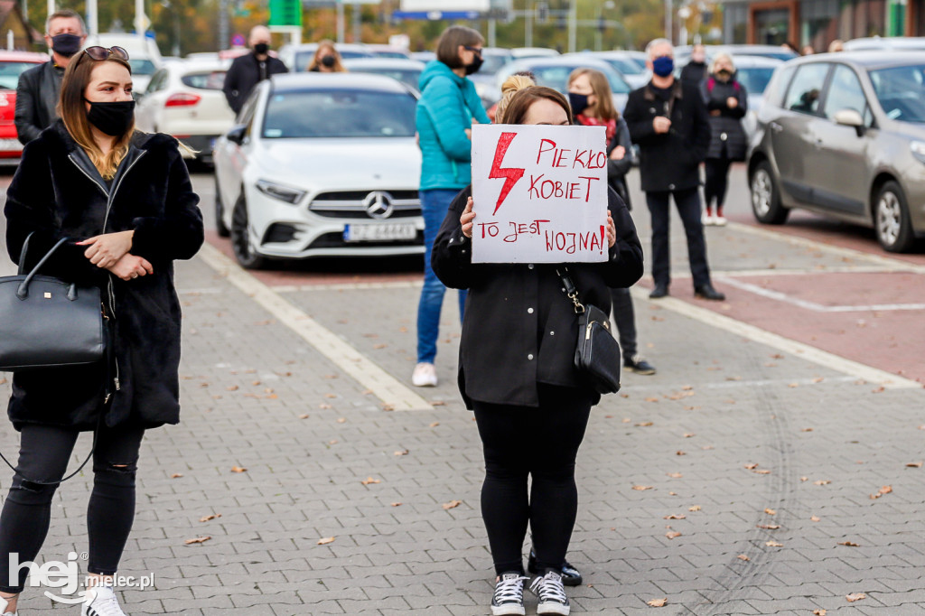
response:
M643 191L683 191L700 184L700 163L707 157L709 116L694 86L674 81L673 104L657 98L651 82L630 92L623 118L633 142L639 144L639 174ZM652 120L668 117L672 128L657 133Z

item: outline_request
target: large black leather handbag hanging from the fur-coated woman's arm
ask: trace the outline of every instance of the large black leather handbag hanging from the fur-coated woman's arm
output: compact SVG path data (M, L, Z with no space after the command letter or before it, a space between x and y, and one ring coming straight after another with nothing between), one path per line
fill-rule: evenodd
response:
M67 240L58 240L26 274L27 238L19 256L19 274L0 277L0 371L105 359L107 332L100 290L38 273Z

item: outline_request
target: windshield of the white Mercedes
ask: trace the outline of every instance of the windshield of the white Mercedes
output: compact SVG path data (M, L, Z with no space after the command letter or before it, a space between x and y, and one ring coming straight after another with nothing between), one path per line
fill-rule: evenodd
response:
M274 92L264 138L413 137L415 104L411 94L397 92Z

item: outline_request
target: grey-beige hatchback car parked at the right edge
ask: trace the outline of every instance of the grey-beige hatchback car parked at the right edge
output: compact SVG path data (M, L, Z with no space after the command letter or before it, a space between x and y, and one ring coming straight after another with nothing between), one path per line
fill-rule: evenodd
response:
M811 55L777 68L748 154L752 211L793 208L872 227L882 247L925 236L925 53Z

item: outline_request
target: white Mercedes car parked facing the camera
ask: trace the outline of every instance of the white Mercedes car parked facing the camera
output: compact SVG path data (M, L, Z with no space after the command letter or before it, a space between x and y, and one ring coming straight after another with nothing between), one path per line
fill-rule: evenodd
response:
M216 144L216 220L238 262L424 252L417 96L388 77L275 75Z

